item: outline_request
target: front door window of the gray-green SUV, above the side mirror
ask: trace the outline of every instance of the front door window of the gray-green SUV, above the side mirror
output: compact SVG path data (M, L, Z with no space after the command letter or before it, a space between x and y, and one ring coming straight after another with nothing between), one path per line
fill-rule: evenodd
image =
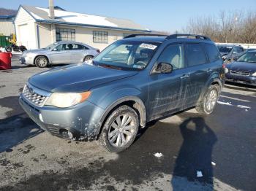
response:
M184 65L184 48L182 44L172 44L165 47L157 59L157 63L170 63L173 69L182 69Z

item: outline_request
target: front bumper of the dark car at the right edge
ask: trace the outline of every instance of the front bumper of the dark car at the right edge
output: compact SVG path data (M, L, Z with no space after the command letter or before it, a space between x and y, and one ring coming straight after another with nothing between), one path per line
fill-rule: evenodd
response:
M225 81L227 82L236 82L246 85L256 85L256 77L240 75L240 74L225 74Z

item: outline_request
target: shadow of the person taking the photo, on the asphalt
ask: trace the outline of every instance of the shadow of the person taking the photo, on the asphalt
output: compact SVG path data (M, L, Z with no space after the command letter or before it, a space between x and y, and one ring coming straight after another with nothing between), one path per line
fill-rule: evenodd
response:
M184 120L179 128L183 143L173 170L173 190L180 189L180 185L176 184L176 176L186 177L189 181L205 182L213 190L211 155L217 136L202 117Z

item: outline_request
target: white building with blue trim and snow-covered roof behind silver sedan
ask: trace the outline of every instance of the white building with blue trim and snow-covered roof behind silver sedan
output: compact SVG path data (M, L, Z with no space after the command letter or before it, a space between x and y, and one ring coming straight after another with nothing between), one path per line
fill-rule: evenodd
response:
M102 50L128 34L150 32L132 20L49 9L20 5L14 20L18 45L35 49L72 40Z

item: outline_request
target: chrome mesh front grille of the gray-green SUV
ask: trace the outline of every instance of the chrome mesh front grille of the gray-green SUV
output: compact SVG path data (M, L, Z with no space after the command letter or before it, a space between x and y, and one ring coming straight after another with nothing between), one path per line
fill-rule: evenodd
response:
M46 95L42 95L42 93L38 93L35 88L31 87L31 85L25 85L23 90L23 96L32 104L36 106L43 106L45 104Z

